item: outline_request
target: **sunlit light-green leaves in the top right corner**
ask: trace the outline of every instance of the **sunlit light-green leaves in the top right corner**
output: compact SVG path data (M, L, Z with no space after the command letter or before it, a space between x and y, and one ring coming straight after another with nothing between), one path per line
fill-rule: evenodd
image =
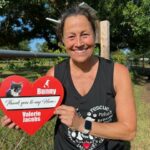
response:
M123 10L125 16L125 24L128 24L134 32L134 36L144 35L150 32L150 9L148 10L148 1L142 1L141 7L134 5L131 1L127 3L127 7Z

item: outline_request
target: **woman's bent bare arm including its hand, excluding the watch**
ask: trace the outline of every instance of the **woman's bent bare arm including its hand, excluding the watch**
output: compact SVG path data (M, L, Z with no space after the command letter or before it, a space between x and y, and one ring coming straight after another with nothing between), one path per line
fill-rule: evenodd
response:
M136 110L132 84L128 69L115 64L114 88L116 91L117 122L92 123L91 135L108 139L132 140L136 133ZM72 129L83 131L84 119L80 118L75 109L62 105L56 110L61 121Z

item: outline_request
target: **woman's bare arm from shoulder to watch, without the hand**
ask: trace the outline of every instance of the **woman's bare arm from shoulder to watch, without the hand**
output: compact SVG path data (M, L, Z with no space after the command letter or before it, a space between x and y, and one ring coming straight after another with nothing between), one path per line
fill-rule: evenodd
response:
M118 120L114 123L94 122L91 134L104 138L132 140L136 133L136 109L130 75L128 69L121 64L115 64L114 88Z

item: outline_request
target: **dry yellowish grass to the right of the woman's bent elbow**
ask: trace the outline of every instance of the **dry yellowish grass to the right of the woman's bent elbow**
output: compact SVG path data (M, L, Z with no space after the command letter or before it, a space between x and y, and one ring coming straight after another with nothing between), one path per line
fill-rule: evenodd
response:
M137 108L137 135L131 142L132 150L148 150L150 147L150 103L145 103L142 99L143 85L136 84L134 90Z

